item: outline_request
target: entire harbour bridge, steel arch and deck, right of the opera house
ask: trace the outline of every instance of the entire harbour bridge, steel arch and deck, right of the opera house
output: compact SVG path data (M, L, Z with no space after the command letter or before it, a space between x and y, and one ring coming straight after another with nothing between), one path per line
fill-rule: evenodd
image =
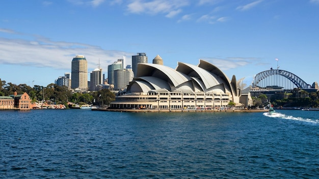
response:
M288 91L300 88L314 91L314 86L306 83L297 75L285 70L266 70L254 76L250 92Z

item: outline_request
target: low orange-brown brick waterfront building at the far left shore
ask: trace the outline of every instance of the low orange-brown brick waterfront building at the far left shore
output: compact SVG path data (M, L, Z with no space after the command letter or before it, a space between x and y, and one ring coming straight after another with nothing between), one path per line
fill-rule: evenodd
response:
M0 96L0 109L30 110L30 97L27 93L17 95L16 92L11 96Z

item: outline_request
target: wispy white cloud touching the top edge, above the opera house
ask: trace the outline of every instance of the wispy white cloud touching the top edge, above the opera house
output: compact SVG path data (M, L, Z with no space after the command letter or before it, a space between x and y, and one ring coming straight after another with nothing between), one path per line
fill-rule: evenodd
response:
M166 17L172 17L181 12L181 7L188 5L188 1L183 0L134 0L127 5L127 11L133 14L166 14Z

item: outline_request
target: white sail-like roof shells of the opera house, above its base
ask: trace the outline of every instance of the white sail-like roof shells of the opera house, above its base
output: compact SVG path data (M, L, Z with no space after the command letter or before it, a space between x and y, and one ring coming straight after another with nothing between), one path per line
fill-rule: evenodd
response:
M200 60L198 66L178 63L176 70L157 64L138 64L137 77L127 87L128 93L166 89L171 92L215 92L235 94L234 85L216 66Z

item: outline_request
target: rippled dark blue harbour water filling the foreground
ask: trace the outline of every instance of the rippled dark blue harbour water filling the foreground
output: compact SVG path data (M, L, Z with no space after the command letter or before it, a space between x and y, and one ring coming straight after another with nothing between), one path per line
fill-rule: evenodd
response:
M318 111L0 111L0 178L317 178Z

